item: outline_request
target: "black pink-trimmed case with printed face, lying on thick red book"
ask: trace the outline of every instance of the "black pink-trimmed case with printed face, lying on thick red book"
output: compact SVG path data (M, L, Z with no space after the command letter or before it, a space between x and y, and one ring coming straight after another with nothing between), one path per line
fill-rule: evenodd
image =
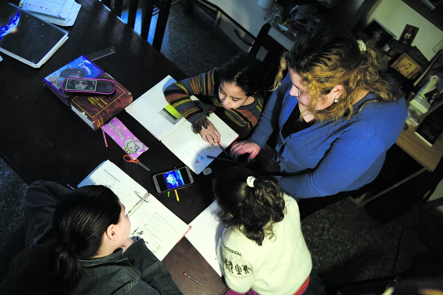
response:
M108 79L66 78L62 89L68 94L108 96L115 92L115 83Z

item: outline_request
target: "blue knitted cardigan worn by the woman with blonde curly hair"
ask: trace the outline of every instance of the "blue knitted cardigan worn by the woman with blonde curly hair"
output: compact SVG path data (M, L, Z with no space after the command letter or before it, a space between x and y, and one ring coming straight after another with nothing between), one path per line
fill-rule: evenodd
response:
M374 180L408 115L405 99L368 102L361 108L366 101L377 98L369 92L354 105L351 119L323 121L283 138L281 129L298 103L289 94L291 85L287 75L271 94L249 138L264 148L278 119L274 160L280 172L289 175L279 178L280 187L294 198L312 198L352 191Z

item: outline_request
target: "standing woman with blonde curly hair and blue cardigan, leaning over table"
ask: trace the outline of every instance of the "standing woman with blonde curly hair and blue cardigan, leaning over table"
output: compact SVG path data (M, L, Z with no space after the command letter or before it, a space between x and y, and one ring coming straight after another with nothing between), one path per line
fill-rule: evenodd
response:
M231 156L250 153L252 160L278 122L273 160L280 187L294 198L328 196L305 201L309 206L301 202L302 218L346 196L339 192L370 183L407 117L404 96L386 68L365 36L333 27L305 34L283 54L254 133L235 142Z

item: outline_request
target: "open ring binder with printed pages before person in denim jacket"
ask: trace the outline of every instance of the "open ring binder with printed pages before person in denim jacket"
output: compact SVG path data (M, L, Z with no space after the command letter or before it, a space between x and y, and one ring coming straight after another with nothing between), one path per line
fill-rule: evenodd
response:
M119 197L131 221L130 236L143 238L160 261L189 229L185 222L109 160L94 169L78 187L95 184L109 187Z

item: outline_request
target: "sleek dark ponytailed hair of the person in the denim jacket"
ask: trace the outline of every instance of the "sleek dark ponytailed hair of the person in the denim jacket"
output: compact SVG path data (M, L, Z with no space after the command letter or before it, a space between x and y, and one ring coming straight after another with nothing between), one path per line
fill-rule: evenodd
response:
M78 285L83 271L79 259L98 254L103 234L120 222L117 195L103 185L77 188L60 200L52 221L55 235L54 279L63 293Z

